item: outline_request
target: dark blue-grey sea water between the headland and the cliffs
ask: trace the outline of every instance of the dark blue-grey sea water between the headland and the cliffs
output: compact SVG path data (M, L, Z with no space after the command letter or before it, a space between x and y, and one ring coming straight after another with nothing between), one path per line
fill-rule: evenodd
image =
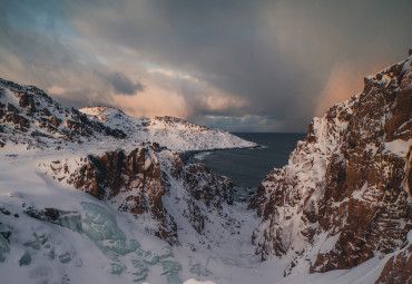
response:
M291 133L234 133L258 145L247 149L222 149L188 151L182 155L185 164L203 163L214 174L226 176L234 182L236 202L248 202L257 185L273 168L281 168L288 161L296 143L305 134Z

